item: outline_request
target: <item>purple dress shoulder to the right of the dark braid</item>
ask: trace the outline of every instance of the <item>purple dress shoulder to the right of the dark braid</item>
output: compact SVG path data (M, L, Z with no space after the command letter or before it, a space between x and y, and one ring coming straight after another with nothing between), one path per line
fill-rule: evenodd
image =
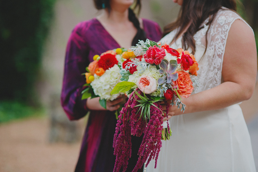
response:
M162 37L162 30L159 24L155 21L142 19L143 30L146 32L146 37L150 40L158 42Z

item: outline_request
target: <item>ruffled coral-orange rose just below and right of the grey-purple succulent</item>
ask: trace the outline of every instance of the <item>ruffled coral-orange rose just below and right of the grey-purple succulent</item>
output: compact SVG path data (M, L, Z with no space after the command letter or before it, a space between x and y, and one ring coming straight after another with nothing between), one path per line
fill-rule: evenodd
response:
M178 86L178 94L183 98L187 98L193 91L190 75L184 71L177 71L176 73L178 73L178 79L173 81L173 83Z

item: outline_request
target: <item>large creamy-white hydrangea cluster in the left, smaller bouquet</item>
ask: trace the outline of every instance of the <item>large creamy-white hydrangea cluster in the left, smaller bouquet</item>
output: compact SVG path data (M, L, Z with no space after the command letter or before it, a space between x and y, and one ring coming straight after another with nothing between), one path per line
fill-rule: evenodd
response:
M115 100L120 94L110 95L112 89L120 82L121 74L120 68L117 64L114 67L109 68L102 76L94 74L94 81L91 82L91 86L95 95L99 95L100 99Z

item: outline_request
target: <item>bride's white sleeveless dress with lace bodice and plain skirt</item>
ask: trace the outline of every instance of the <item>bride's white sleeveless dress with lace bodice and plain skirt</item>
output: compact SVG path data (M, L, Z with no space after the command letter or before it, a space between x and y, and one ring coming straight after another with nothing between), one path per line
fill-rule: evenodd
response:
M208 30L208 46L203 57L208 26L204 25L194 36L199 70L198 76L193 78L200 86L192 94L221 84L228 32L236 19L243 20L226 8L217 13ZM170 32L161 42L171 43L175 34L176 30ZM177 39L171 47L182 48L181 39ZM155 160L151 160L147 172L256 172L250 136L238 104L173 116L170 126L172 136L170 140L162 141L157 168L154 169Z

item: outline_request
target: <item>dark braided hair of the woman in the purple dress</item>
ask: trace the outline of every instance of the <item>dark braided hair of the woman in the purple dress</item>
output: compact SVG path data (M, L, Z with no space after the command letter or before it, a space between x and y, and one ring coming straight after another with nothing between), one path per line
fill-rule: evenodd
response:
M96 9L100 10L102 9L102 4L104 4L105 8L107 8L109 11L111 10L110 7L110 0L93 0ZM146 40L146 34L143 29L140 28L140 22L138 18L136 17L134 10L138 10L138 14L141 10L141 0L136 0L134 7L131 9L129 8L128 11L128 19L133 23L134 27L137 29L137 33L132 41L132 46L135 46L138 43L138 40Z

